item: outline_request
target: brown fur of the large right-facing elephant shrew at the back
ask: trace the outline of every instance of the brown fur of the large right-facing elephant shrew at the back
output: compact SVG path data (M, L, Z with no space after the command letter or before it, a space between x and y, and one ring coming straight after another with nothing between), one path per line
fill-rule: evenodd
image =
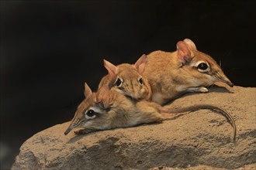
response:
M200 72L195 66L199 61L208 63L210 70ZM216 61L199 52L190 39L178 42L175 52L150 53L147 56L144 76L150 83L152 100L157 104L165 104L182 93L207 92L205 87L218 81L233 87Z

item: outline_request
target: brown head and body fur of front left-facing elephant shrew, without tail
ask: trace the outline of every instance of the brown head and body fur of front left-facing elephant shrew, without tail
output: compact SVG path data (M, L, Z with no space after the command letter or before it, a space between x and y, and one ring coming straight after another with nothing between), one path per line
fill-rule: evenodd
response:
M95 118L87 119L85 112L92 107L100 110ZM171 116L171 115L170 115ZM161 122L161 106L148 101L135 102L117 92L115 87L101 87L97 93L91 93L78 106L70 127L65 134L73 128L88 130L102 130L112 128L126 128L137 124ZM86 124L87 123L87 124ZM79 131L84 133L85 131Z

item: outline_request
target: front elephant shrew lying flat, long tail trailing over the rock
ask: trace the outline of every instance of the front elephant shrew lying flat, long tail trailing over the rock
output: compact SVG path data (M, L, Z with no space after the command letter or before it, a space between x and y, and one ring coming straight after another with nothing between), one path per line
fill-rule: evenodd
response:
M86 89L87 88L87 89ZM64 132L68 134L73 128L84 128L75 131L76 134L85 134L91 131L106 130L112 128L127 128L137 124L162 122L178 116L178 114L199 109L217 110L228 118L234 128L234 140L236 138L236 125L231 115L219 107L212 105L196 105L173 110L168 107L146 100L135 101L125 97L115 90L116 87L103 86L97 93L92 93L85 83L85 100L78 106L69 128ZM89 110L95 110L95 114L88 116Z

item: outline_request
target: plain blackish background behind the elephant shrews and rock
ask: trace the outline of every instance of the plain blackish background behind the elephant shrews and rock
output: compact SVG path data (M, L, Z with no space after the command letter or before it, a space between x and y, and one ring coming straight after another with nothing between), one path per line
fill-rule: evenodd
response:
M36 132L71 120L102 59L135 63L189 38L237 86L256 87L255 1L2 1L1 169Z

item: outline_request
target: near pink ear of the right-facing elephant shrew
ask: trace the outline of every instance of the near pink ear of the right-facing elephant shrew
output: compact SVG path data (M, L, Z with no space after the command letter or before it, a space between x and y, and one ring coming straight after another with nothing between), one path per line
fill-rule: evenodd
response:
M177 42L176 46L178 59L182 62L183 65L185 63L189 63L194 56L192 51L189 49L189 46L183 41Z

